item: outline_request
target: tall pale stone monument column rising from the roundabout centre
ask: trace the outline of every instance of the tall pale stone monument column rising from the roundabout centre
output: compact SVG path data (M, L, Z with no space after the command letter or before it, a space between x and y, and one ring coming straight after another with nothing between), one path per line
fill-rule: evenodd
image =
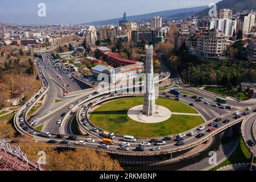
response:
M153 69L153 46L146 45L146 93L143 98L143 114L147 117L155 115L155 84ZM144 89L145 90L145 89Z

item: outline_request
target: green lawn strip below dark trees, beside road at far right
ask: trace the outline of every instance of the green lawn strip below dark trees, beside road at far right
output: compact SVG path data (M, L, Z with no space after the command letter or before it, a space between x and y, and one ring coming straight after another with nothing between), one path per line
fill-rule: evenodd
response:
M240 100L244 100L247 98L245 93L245 89L242 89L242 92L237 92L237 88L233 88L232 90L228 90L225 87L217 87L217 86L205 86L204 90L207 90L212 93L220 94L221 96L225 97L235 97Z

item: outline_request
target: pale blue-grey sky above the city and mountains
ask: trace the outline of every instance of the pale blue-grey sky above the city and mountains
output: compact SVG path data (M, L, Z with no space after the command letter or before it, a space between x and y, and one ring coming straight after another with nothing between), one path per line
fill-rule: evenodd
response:
M0 22L19 24L79 24L156 11L208 6L220 0L1 0ZM46 16L38 16L38 5Z

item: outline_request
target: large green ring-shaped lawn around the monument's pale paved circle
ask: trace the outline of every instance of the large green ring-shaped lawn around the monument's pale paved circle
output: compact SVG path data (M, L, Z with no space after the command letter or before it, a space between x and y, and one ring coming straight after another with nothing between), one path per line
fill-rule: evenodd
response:
M94 125L121 135L135 137L160 137L187 131L204 122L200 116L172 115L170 119L160 123L141 123L133 121L127 111L134 106L142 105L143 97L124 98L98 107L90 114ZM167 98L158 98L156 104L167 107L178 113L197 113L192 107Z

